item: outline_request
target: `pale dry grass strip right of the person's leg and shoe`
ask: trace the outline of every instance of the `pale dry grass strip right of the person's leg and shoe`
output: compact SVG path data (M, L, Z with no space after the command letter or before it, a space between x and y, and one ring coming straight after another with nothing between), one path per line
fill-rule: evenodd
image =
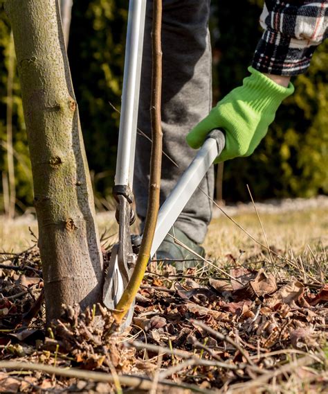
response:
M260 217L270 246L282 252L293 250L295 254L300 254L308 245L315 250L328 245L327 214L328 209L309 209L283 215L262 214ZM257 241L266 244L255 212L237 215L233 219ZM204 246L212 257L223 257L227 254L239 257L239 251L243 250L244 259L254 255L256 249L260 249L253 239L225 216L210 223Z

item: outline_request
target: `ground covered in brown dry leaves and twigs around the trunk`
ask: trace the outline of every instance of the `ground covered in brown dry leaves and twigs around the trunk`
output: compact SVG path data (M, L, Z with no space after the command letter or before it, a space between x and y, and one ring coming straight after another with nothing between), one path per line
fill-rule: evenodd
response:
M152 262L125 334L111 334L100 306L68 307L45 331L37 247L3 252L0 391L326 393L325 225L322 212L293 216L289 230L304 221L309 243L295 235L283 246L287 216L280 226L262 219L268 243L249 218L235 219L248 232L237 228L239 238L232 223L230 246L229 226L213 223L208 262L183 273Z

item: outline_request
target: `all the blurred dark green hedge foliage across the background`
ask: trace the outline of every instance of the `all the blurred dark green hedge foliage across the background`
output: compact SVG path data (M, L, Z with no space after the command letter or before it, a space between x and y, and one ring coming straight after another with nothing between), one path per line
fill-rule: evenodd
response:
M261 35L262 0L238 6L212 1L213 92L218 101L247 74ZM80 108L86 154L98 208L109 207L116 163L120 94L127 21L126 0L74 1L69 60ZM327 193L327 42L316 51L307 74L293 79L295 94L277 113L268 136L248 158L224 166L223 197L248 200L246 184L257 200L310 197ZM0 212L6 181L6 111L10 63L10 25L0 5ZM33 204L24 116L15 69L12 90L16 208ZM6 189L6 187L5 187Z

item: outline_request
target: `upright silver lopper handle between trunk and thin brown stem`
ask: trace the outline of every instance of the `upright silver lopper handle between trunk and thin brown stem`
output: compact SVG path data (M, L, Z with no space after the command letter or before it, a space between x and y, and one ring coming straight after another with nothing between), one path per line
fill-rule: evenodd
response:
M129 186L134 178L134 152L140 92L143 35L145 31L146 0L130 0L127 21L127 43L116 161L116 186Z

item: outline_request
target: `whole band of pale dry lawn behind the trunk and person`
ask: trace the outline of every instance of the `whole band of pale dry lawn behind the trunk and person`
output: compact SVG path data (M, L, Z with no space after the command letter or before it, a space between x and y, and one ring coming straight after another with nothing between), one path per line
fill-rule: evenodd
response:
M305 209L304 211L289 212L282 215L260 214L268 243L277 249L300 254L309 245L322 249L328 245L328 209ZM244 229L261 243L265 243L264 235L259 225L257 215L237 214L233 216ZM97 216L100 234L116 234L118 228L113 214L107 212ZM0 250L20 252L33 244L33 237L28 228L37 235L37 223L33 216L22 216L15 221L8 221L0 216ZM113 235L111 241L115 240ZM254 254L257 248L255 242L226 216L213 219L208 229L208 237L204 243L212 258L224 257L231 254L240 255L239 250L245 250L243 258Z

